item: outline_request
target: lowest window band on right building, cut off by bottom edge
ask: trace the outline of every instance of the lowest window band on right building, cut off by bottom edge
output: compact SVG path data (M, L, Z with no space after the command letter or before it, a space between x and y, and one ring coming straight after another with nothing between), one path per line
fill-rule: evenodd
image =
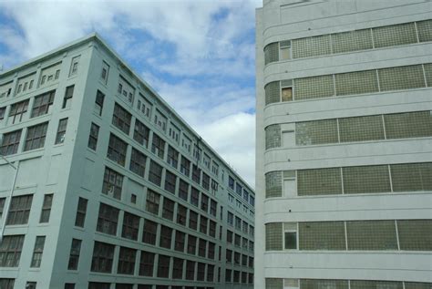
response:
M431 287L431 283L402 281L265 278L265 289L430 289Z

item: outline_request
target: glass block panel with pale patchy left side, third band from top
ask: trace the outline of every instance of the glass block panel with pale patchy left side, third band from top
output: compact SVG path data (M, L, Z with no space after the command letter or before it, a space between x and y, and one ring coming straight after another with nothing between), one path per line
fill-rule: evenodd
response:
M295 123L295 144L297 146L337 142L337 119L320 119Z

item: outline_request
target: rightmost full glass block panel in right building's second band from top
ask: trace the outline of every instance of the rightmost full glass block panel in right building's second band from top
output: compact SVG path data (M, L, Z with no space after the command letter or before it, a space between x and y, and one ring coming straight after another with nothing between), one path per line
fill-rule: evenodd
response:
M381 91L426 87L421 65L378 69L378 77Z

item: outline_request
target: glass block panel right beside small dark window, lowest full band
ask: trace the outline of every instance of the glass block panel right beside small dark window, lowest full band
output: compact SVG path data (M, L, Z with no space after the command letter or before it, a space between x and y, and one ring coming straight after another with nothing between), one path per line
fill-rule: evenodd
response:
M300 222L300 250L346 250L344 222Z

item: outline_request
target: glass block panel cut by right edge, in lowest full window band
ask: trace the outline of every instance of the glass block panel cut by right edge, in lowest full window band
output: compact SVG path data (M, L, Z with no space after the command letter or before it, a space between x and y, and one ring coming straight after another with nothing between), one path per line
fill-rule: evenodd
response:
M432 251L432 220L398 220L400 250Z

